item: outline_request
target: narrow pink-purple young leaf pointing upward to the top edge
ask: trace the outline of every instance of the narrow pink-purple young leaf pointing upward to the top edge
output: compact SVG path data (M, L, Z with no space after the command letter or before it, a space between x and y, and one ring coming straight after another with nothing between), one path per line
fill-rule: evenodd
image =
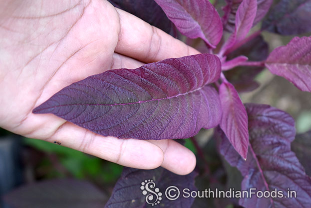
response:
M223 51L241 41L252 28L257 11L257 0L243 0L239 5L235 19L235 30L223 45Z

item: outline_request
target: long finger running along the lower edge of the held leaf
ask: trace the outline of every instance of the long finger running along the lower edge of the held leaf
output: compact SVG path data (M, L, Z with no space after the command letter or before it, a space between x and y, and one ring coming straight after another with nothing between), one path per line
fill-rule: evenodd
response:
M156 168L164 159L162 149L146 140L101 136L70 122L65 122L46 140L140 169Z

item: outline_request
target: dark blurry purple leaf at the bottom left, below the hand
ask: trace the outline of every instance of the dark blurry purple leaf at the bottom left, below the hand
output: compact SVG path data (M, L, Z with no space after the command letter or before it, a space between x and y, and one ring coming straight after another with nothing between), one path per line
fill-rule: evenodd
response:
M75 179L51 179L23 185L4 196L11 207L103 207L107 196L93 184Z

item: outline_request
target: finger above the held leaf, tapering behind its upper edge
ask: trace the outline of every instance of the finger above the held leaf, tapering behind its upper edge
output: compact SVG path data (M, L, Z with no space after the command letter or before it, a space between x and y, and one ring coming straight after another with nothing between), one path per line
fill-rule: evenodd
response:
M146 63L199 53L161 29L126 11L116 9L120 18L116 52Z

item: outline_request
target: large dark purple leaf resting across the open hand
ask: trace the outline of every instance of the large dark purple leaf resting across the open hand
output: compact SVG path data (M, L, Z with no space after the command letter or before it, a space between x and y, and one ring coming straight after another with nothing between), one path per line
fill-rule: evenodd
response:
M53 113L95 133L119 138L188 138L218 125L216 55L169 58L136 69L89 76L54 94L34 113Z

